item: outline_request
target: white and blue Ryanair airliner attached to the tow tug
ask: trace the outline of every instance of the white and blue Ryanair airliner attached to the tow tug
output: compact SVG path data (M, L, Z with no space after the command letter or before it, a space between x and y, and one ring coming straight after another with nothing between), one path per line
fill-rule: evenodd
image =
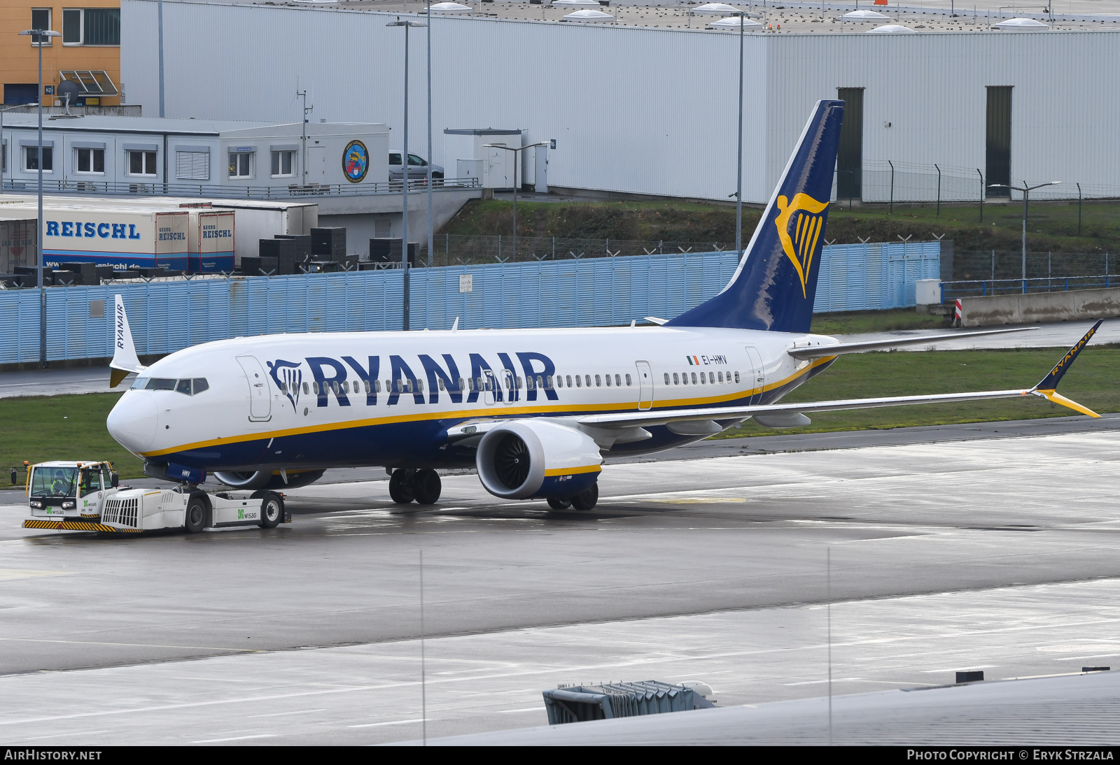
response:
M109 432L148 474L186 483L209 472L282 489L383 465L395 502L430 504L436 469L477 466L496 497L589 510L604 454L665 450L748 417L792 427L813 412L1028 395L1098 416L1055 391L1096 327L1034 388L777 403L842 353L939 339L810 333L842 115L843 102L818 102L730 283L672 321L235 338L146 368L118 296L111 385L139 377Z

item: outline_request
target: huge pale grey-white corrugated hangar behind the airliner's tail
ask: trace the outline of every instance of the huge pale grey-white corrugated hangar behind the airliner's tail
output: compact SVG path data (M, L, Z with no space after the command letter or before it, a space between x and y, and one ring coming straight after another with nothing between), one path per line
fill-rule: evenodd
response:
M156 2L121 8L122 79L147 112L158 103ZM165 36L169 115L298 120L298 83L312 122L402 125L403 30L385 26L395 15L217 2L164 12L167 29L196 30ZM411 31L410 58L409 145L421 154L426 34ZM445 131L520 129L525 144L556 141L553 189L718 200L735 191L736 35L475 16L435 18L431 35L431 159L448 174L480 158L451 155ZM851 103L841 163L865 176L890 162L979 170L991 182L1063 180L1054 189L1074 197L1076 182L1086 195L1120 187L1120 100L1107 87L1120 81L1118 31L749 34L745 42L745 201L766 200L813 102L838 95ZM536 161L525 160L522 181L535 182ZM883 188L865 196L885 200ZM978 195L979 179L968 188Z

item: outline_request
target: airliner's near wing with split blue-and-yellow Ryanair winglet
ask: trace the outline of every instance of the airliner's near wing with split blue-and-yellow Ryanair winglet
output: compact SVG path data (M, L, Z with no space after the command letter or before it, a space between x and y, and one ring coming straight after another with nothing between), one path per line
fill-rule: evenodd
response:
M1073 365L1074 359L1085 347L1090 338L1101 325L1101 321L1093 324L1093 328L1071 348L1062 360L1044 377L1038 385L1033 388L1019 388L1011 390L981 390L978 393L959 394L932 394L927 396L886 396L881 398L848 398L832 402L801 402L796 404L769 404L758 406L726 406L696 409L669 409L661 412L619 412L613 414L590 415L578 417L576 422L580 425L591 427L629 427L643 425L668 425L669 423L699 419L741 419L746 417L769 416L769 417L793 417L799 414L813 412L840 412L843 409L868 409L883 406L906 406L912 404L943 404L946 402L972 402L989 398L1016 398L1020 396L1039 396L1055 404L1070 407L1075 412L1099 417L1095 412L1073 402L1057 393L1057 384L1062 376ZM834 348L831 347L831 348ZM824 350L825 347L821 347ZM828 356L833 352L830 349Z

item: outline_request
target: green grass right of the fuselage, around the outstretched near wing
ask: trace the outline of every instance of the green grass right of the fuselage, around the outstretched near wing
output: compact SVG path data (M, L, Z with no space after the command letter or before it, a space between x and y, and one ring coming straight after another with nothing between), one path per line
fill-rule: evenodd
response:
M842 356L829 369L801 386L783 403L875 396L963 393L1029 388L1049 371L1064 348L1028 350L895 351ZM1062 380L1061 393L1098 413L1120 412L1120 348L1088 348ZM926 404L881 409L853 409L812 415L808 427L775 431L748 421L719 437L824 433L915 425L986 423L1076 414L1037 396L1023 399Z

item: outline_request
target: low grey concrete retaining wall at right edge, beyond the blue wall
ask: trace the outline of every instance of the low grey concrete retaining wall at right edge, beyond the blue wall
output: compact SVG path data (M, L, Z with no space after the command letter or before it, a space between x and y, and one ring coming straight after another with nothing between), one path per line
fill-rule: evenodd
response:
M962 327L1120 317L1120 289L962 298Z

